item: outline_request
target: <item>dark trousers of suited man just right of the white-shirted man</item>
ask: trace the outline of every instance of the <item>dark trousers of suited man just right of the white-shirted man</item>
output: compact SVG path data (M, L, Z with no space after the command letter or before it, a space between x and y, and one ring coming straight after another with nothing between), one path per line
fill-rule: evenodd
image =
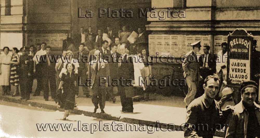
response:
M50 83L50 88L49 88ZM56 97L56 79L55 74L48 75L43 79L43 87L44 87L44 99L49 99L49 90L51 91L51 98L54 99Z

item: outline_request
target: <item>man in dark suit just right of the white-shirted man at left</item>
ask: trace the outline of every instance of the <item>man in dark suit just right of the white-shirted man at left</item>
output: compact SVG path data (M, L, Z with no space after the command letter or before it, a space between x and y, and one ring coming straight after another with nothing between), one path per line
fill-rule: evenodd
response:
M51 47L46 47L46 55L47 62L42 64L42 73L43 73L43 97L45 101L49 100L49 89L51 91L51 98L54 99L56 96L56 78L55 78L55 62L50 60L51 56ZM50 88L49 88L50 83Z

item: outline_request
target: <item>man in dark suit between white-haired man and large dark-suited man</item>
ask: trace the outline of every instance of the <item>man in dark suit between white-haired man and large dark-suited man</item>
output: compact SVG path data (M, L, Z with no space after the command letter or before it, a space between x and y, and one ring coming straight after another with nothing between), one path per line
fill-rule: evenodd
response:
M116 52L118 46L116 44L111 46L111 51L107 53L108 57L110 58L110 62L108 62L109 64L109 70L110 70L110 77L111 80L112 79L116 79L117 78L117 70L118 70L118 62L117 62L117 56L119 55L119 53ZM107 100L109 101L113 101L113 103L115 103L116 99L115 99L115 95L114 95L114 90L113 90L114 86L110 86L108 93L107 93Z

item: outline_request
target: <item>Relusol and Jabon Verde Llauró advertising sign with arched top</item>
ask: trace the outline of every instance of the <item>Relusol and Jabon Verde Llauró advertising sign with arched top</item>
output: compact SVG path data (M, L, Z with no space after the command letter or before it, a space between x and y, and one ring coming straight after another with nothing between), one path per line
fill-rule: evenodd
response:
M237 86L250 80L250 59L253 37L244 29L237 29L228 36L228 86Z

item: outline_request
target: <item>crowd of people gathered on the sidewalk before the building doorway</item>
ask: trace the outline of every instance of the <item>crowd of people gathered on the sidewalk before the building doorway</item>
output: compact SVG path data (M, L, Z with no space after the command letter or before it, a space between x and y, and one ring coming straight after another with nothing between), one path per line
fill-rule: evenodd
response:
M94 112L99 108L99 104L101 113L105 113L103 109L106 100L115 103L116 89L121 98L122 112L133 112L133 101L129 97L129 94L133 94L133 90L131 90L134 89L133 87L120 87L123 84L120 84L119 87L100 86L97 78L99 76L106 76L106 78L110 76L111 79L125 77L134 80L135 70L139 70L139 76L144 78L145 76L151 77L151 65L142 63L140 66L140 64L136 65L126 61L128 60L126 56L129 54L148 55L147 45L139 46L135 49L131 48L132 45L140 45L140 42L147 43L147 36L145 36L143 29L138 28L139 36L135 38L134 44L127 40L131 32L127 31L126 26L123 26L122 31L118 33L115 33L110 27L107 27L106 33L98 29L97 35L92 32L91 27L88 30L84 30L81 27L80 31L81 33L76 34L73 38L70 38L69 33L66 33L66 39L63 40L62 45L62 56L69 56L69 60L65 60L65 62L63 60L58 60L58 62L51 61L48 56L53 56L52 47L47 46L45 42L36 44L36 47L34 45L24 46L20 51L14 47L12 54L10 54L8 47L4 47L4 53L1 54L0 70L1 78L4 78L1 80L3 95L10 94L10 85L14 85L16 88L12 96L19 96L21 93L21 100L29 100L31 93L33 93L33 96L39 96L42 91L43 98L45 101L48 101L50 93L51 98L58 101L61 108L65 109L64 118L66 118L69 114L69 109L77 106L75 98L79 95L79 80L84 84L86 79L92 79L92 85L90 87L82 87L82 89L87 97L92 98L95 106ZM124 58L121 63L97 62L90 65L90 62L78 61L78 53L82 56L89 55L88 61L95 60L92 57L93 55L97 55L98 59L103 59L105 55L111 58L122 55ZM37 56L48 58L44 62L43 60L39 61ZM34 79L37 80L37 86L33 92ZM146 86L143 87L145 90ZM143 100L148 98L148 92L145 91Z

